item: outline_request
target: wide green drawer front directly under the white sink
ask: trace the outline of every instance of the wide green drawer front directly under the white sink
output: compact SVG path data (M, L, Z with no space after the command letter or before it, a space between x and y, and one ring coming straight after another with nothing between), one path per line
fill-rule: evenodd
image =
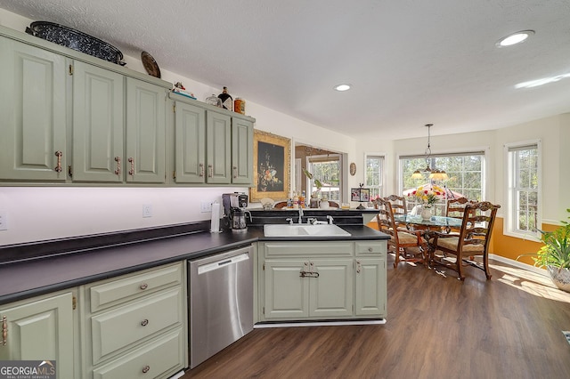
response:
M350 241L334 242L265 242L265 257L311 257L311 256L353 256L353 243Z

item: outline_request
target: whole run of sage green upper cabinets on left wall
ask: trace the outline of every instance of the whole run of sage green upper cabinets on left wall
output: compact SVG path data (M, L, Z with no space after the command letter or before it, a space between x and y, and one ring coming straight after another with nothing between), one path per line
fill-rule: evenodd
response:
M0 68L4 185L252 185L251 117L2 26Z

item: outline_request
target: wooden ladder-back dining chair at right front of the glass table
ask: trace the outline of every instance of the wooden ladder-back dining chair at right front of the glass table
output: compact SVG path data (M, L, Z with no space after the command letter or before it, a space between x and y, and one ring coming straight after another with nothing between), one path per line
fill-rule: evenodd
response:
M488 201L467 204L463 212L459 234L436 232L430 239L433 251L429 261L444 265L457 271L460 280L464 280L462 267L467 265L485 271L487 280L491 279L489 271L489 244L493 233L493 224L499 205L493 205ZM449 255L455 255L454 259ZM476 262L475 257L480 256L481 262Z

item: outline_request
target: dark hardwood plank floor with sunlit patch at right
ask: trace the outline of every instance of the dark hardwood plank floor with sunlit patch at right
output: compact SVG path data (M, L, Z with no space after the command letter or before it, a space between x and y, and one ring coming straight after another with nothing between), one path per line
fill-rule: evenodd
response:
M255 329L183 378L570 378L570 294L549 278L392 262L387 324Z

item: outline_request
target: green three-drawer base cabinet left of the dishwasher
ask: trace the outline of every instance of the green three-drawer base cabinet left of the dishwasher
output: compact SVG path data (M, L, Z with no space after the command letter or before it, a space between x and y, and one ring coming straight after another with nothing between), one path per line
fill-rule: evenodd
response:
M85 378L163 378L187 367L182 262L81 286Z

